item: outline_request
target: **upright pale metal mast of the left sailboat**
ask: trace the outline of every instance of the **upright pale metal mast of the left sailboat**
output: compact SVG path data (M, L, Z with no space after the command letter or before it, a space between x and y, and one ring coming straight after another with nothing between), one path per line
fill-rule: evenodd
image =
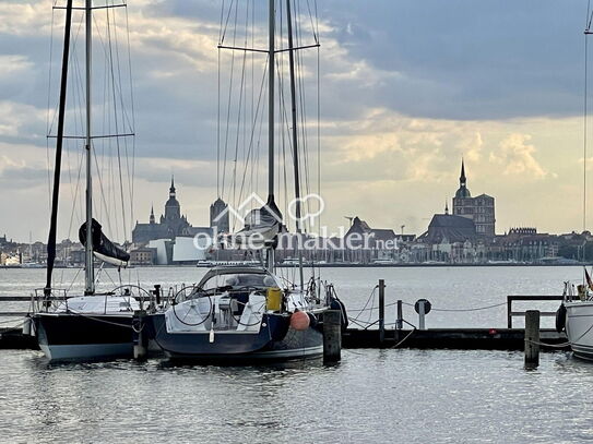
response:
M93 269L93 181L91 177L92 145L91 145L91 73L93 57L93 0L86 0L86 245L85 245L85 293L95 292L95 273Z

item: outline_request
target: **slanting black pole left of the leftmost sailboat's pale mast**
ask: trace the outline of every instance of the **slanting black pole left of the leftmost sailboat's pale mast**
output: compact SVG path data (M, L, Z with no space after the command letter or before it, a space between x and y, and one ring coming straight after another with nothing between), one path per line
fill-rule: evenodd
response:
M70 28L72 26L72 0L66 7L66 26L63 32L62 74L60 82L60 105L58 111L58 134L56 143L56 165L54 169L54 194L51 196L51 218L47 240L47 280L44 289L45 296L51 293L51 273L56 261L56 236L58 228L58 197L60 195L60 172L62 165L63 121L66 116L66 96L68 89L68 60L70 57Z

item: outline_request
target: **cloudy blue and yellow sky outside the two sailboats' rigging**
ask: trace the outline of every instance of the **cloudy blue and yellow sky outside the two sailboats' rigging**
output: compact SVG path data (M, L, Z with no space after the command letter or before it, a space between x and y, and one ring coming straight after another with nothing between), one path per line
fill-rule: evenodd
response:
M146 221L151 204L162 212L171 171L182 212L206 225L222 0L128 3L137 133L128 225ZM463 157L471 192L496 197L497 232L582 228L586 0L317 3L324 225L358 215L420 233L451 205ZM63 21L51 4L0 2L0 233L23 241L47 236L49 48L54 34L55 81ZM63 177L61 237L78 217L68 208L76 165Z

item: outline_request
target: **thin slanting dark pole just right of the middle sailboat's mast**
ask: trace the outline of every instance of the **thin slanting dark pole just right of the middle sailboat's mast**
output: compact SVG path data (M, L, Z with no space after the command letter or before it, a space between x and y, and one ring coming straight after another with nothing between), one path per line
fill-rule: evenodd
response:
M303 228L300 227L300 178L298 167L298 145L297 145L297 115L296 115L296 82L295 82L295 49L293 44L293 17L290 12L290 0L286 0L286 19L288 20L288 60L290 63L290 100L293 115L293 152L294 152L294 171L295 171L295 212L298 249L298 269L300 277L300 289L305 288L305 277L303 276L303 250L300 248Z

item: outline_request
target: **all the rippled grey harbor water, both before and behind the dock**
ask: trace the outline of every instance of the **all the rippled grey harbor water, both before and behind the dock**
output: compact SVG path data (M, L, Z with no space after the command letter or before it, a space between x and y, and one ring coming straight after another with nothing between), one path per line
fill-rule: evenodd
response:
M64 283L75 273L66 269ZM104 280L107 288L118 283L109 273L114 283ZM126 281L168 287L197 281L204 271L126 273ZM365 307L379 278L386 279L388 304L426 298L435 309L461 310L505 302L507 295L559 295L562 281L581 279L582 268L324 268L322 274L356 316L354 309ZM27 295L43 278L43 269L0 269L0 296ZM376 307L372 299L367 308ZM388 313L394 310L390 305ZM372 320L369 313L375 311L359 320ZM404 316L415 322L408 305ZM427 326L503 327L506 307L432 311ZM1 350L0 369L2 442L593 440L593 364L568 352L545 352L539 368L526 371L521 352L485 350L356 349L343 350L333 367L299 361L247 368L176 367L158 359L49 364L38 351Z

